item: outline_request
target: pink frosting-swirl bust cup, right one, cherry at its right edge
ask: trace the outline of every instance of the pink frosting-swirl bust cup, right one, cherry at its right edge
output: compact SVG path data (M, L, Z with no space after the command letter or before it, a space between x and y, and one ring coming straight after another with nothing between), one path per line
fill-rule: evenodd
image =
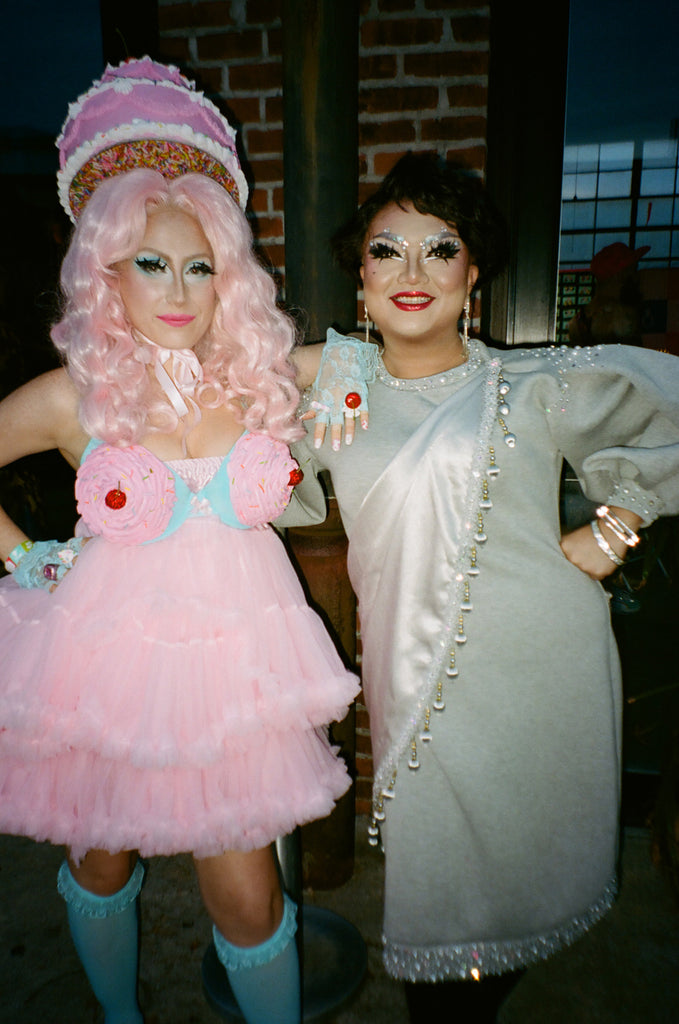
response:
M228 460L231 504L239 520L259 526L278 519L302 475L283 441L268 434L244 434Z

